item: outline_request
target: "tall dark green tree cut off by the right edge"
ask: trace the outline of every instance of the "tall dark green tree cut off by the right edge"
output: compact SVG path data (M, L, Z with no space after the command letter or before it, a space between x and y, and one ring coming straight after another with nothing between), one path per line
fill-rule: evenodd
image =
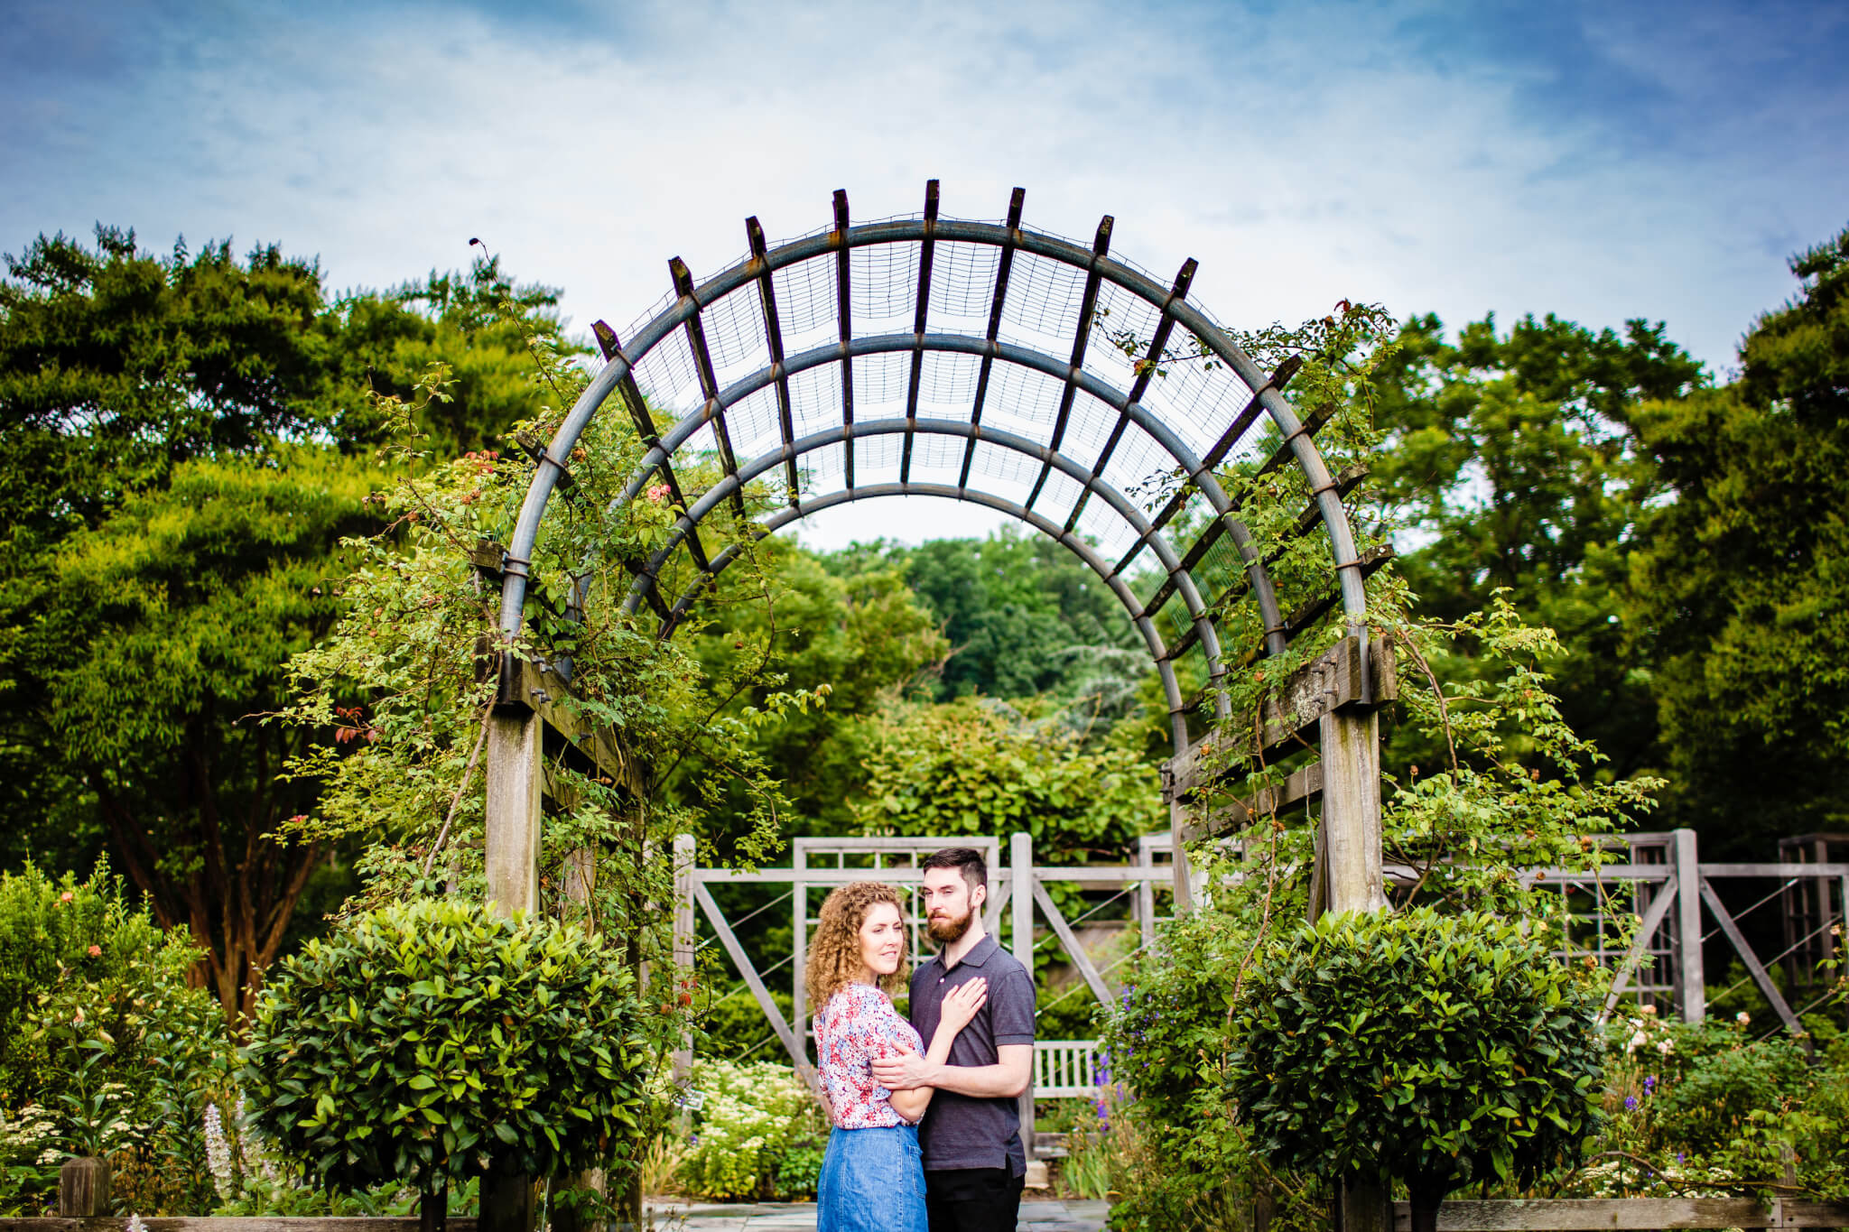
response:
M1718 850L1840 829L1849 752L1849 229L1790 262L1720 388L1636 410L1673 493L1647 512L1623 593L1653 665L1670 816Z

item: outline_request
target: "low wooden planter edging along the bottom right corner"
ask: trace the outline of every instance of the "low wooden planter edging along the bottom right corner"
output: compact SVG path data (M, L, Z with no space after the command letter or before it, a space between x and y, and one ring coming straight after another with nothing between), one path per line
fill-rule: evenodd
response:
M1392 1204L1394 1232L1413 1226L1411 1202ZM1849 1228L1849 1202L1734 1197L1586 1197L1444 1202L1439 1232L1598 1232L1620 1228Z

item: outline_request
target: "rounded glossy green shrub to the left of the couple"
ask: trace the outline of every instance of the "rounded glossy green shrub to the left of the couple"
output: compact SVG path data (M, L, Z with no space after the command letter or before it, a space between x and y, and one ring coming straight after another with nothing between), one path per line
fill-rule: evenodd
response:
M272 968L244 1090L257 1129L337 1188L608 1162L643 1108L649 1044L619 949L549 920L425 900Z

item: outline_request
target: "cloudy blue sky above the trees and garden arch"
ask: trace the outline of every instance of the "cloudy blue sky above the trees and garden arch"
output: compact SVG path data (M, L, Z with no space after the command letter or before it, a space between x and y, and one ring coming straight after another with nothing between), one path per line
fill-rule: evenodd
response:
M788 236L1026 220L1222 321L1339 297L1664 320L1714 369L1849 223L1849 4L0 4L0 249L318 253L333 286L481 235L577 325ZM882 502L884 504L884 502ZM869 504L806 537L982 530ZM919 530L926 526L928 530Z

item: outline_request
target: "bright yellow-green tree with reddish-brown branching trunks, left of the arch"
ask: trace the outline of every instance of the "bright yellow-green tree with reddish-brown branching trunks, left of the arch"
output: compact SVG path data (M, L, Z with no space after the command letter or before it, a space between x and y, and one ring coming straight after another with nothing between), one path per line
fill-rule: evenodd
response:
M207 948L233 1018L327 855L274 837L314 807L312 781L281 778L303 733L242 720L331 628L329 549L373 525L368 471L322 449L185 462L50 562L44 735L161 924Z

